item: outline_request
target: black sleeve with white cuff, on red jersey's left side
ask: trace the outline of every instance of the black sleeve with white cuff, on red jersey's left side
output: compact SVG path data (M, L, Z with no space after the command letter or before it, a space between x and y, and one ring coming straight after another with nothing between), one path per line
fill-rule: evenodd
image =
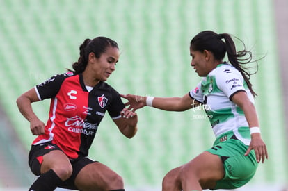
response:
M67 76L72 76L72 72L67 72L65 74L57 74L47 79L45 82L40 83L35 86L38 98L40 100L55 97L61 88L61 85Z

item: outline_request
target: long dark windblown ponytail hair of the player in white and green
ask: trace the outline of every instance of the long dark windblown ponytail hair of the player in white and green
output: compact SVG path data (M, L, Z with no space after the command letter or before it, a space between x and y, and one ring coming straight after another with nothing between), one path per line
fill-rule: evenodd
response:
M224 39L224 41L222 39ZM252 84L250 83L250 75L252 74L247 71L248 67L243 66L252 61L252 53L251 51L246 50L243 41L241 41L239 38L237 38L237 40L243 44L244 49L242 51L236 51L234 41L232 40L232 36L230 34L217 34L213 31L202 31L198 33L198 35L195 35L195 37L191 40L190 49L201 52L204 50L211 51L216 60L223 60L225 53L227 53L230 64L239 70L244 78L244 81L247 83L250 92L255 97L257 94L252 89ZM257 62L255 63L257 72L258 65Z

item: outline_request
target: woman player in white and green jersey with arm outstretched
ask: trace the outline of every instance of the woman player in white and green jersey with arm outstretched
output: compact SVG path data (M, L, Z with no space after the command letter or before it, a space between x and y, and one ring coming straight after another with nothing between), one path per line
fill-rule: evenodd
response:
M244 46L245 47L245 46ZM227 53L229 63L223 58ZM231 35L202 31L190 43L191 66L202 77L183 97L122 95L129 110L152 106L184 111L204 104L216 140L213 147L163 178L162 190L236 189L254 176L268 158L254 106L256 93L243 67L252 53L236 51Z

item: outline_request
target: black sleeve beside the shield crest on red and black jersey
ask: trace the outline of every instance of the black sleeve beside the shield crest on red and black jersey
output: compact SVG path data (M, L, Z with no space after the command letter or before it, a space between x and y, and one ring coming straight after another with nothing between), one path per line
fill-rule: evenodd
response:
M120 94L112 88L113 100L111 106L108 108L108 113L112 119L121 117L120 112L125 108L125 105L120 97Z

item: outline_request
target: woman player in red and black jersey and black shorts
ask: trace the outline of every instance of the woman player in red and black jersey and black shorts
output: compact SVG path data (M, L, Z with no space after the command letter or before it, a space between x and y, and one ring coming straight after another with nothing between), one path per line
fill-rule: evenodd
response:
M17 106L38 135L29 152L29 166L38 176L29 190L124 190L122 177L90 160L88 150L106 111L127 138L137 131L138 118L120 94L105 83L119 59L118 44L105 37L86 39L73 70L36 85L17 99ZM51 99L44 124L31 103Z

